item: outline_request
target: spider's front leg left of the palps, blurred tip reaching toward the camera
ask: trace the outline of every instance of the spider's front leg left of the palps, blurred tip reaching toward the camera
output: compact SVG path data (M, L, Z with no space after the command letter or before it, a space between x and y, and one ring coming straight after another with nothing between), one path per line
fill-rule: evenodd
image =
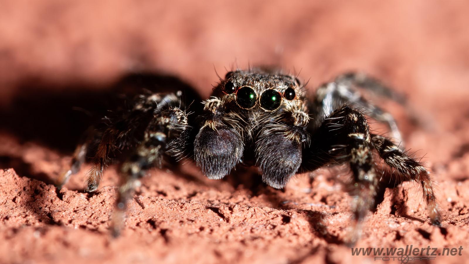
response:
M188 143L189 133L185 111L169 107L155 113L145 129L144 139L121 165L121 185L111 225L113 236L120 234L127 202L139 185L138 179L154 166L161 168L165 155L181 155Z

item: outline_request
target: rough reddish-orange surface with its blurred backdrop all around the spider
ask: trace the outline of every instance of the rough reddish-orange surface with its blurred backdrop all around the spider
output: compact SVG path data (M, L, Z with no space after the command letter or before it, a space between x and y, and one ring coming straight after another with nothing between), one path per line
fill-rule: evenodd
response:
M108 233L118 176L95 194L88 166L62 190L85 113L105 113L112 83L133 71L177 76L209 96L215 70L276 64L310 79L361 70L405 93L396 116L438 183L444 228L417 185L386 188L356 247L469 250L469 6L464 1L320 1L247 5L187 1L3 1L0 11L0 263L350 263L348 175L320 170L284 190L238 169L206 179L191 163L152 170ZM238 65L238 66L236 66ZM215 68L215 70L214 70ZM409 115L417 116L418 124ZM373 129L386 132L384 126ZM391 186L392 187L392 186Z

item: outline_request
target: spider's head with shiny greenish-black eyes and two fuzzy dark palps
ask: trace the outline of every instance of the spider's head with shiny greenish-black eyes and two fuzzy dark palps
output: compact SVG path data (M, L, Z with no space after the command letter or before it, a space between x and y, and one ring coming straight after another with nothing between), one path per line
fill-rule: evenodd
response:
M210 179L223 178L240 162L256 164L266 183L281 188L298 170L308 143L306 111L296 78L229 72L204 101L195 161Z

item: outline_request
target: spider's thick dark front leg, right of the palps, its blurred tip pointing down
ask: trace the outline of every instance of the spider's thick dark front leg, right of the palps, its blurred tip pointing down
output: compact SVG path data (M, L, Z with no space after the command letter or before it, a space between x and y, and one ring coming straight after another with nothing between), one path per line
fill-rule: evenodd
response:
M348 163L353 174L354 232L350 242L359 237L361 223L374 205L378 177L373 161L373 145L365 116L348 106L333 111L311 135L310 147L303 151L300 172L313 171L327 163Z

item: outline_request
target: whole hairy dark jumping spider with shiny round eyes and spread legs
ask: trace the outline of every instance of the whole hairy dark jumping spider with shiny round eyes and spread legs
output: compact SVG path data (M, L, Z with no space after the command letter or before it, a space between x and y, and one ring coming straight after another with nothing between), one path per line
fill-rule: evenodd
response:
M58 185L79 170L85 156L91 156L85 190L95 191L110 155L127 149L113 217L117 235L137 179L151 167L161 167L164 159L190 157L209 179L221 179L240 164L255 165L263 181L274 188L283 188L296 173L348 163L357 190L352 207L357 226L377 196L377 153L397 176L421 184L431 223L440 225L429 172L391 140L370 132L359 109L388 124L393 137L400 140L393 117L366 101L357 86L393 94L372 78L350 73L320 86L308 98L295 76L259 68L228 72L202 105L189 107L194 100L184 98L185 91L138 95L129 107L107 118L104 127L91 130Z

